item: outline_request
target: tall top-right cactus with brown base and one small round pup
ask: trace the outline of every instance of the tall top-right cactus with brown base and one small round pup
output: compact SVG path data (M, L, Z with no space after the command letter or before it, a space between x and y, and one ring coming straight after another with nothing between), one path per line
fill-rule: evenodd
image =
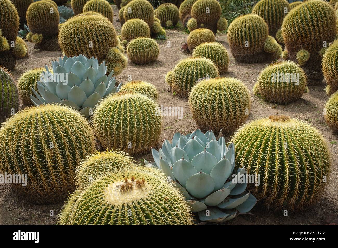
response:
M283 20L282 34L289 59L302 65L309 79L322 80L320 51L336 36L332 6L310 0L293 8Z

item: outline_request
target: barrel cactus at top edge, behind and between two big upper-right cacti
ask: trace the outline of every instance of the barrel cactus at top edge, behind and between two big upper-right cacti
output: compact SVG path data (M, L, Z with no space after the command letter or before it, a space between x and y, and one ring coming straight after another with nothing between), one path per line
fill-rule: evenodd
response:
M268 24L269 34L275 37L290 9L289 3L285 0L260 0L252 9L252 14L261 16Z

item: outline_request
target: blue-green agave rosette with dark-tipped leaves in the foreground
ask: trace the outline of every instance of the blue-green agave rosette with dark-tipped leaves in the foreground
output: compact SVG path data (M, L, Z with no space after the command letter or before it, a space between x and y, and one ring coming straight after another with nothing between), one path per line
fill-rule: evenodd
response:
M201 221L231 220L237 213L249 212L257 202L246 191L247 182L239 180L246 175L245 167L234 171L234 144L226 147L224 137L219 136L216 141L212 131L203 134L199 129L186 136L175 133L171 144L165 139L162 149L152 149L154 163L145 160L146 166L170 177Z

